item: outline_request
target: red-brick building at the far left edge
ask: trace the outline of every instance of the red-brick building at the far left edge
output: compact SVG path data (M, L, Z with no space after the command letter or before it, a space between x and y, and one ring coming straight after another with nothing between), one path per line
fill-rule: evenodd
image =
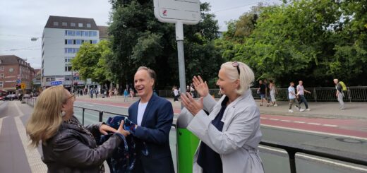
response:
M16 85L24 83L25 90L32 89L35 70L24 59L15 55L0 56L0 90L16 93Z

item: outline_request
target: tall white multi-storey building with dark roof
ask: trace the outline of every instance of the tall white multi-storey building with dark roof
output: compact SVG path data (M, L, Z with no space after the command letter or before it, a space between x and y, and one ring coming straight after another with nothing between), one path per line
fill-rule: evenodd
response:
M49 16L42 35L41 85L62 84L65 88L85 85L71 69L71 59L84 42L96 44L100 31L92 18Z

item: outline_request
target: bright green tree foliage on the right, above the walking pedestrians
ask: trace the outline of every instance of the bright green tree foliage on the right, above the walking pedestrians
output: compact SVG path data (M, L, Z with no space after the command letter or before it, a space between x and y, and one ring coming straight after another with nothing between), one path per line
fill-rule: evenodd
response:
M366 1L294 0L253 8L229 23L217 40L224 59L243 61L256 78L287 85L306 80L330 86L332 78L366 85Z

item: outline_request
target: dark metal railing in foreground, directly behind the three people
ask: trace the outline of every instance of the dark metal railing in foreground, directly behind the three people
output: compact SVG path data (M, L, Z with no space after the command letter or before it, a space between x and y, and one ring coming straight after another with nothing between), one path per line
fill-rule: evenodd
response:
M92 109L92 108L85 108L85 107L78 107L74 106L79 109L82 109L82 123L84 125L84 117L85 117L85 110L91 110L95 112L99 112L99 121L102 122L104 114L112 114L112 115L122 115L124 117L127 117L125 114L117 114L114 112L107 112L102 111L99 109ZM174 128L176 128L176 124L173 124ZM351 164L357 164L357 165L363 165L367 166L367 160L354 158L353 155L342 155L342 154L333 154L333 153L327 153L322 150L315 150L314 148L305 148L304 146L299 145L291 145L291 144L284 144L284 143L274 143L271 141L261 141L260 145L265 145L272 148L279 148L287 151L287 154L289 156L289 167L291 173L296 173L296 153L304 153L308 155L318 156L318 157L324 157L327 159L332 160L338 160L342 162L348 162Z

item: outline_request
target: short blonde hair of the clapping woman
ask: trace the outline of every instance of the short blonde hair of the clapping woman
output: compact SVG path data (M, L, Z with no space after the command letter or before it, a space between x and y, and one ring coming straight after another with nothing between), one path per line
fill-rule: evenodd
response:
M240 72L237 71L237 67L233 65L234 62L232 61L222 64L220 68L225 69L227 77L230 78L231 80L234 81L239 79L239 88L236 89L236 93L239 95L243 95L243 93L245 93L246 90L248 90L251 87L253 81L255 80L255 75L253 74L251 68L248 67L246 64L242 62L237 63L239 63Z

